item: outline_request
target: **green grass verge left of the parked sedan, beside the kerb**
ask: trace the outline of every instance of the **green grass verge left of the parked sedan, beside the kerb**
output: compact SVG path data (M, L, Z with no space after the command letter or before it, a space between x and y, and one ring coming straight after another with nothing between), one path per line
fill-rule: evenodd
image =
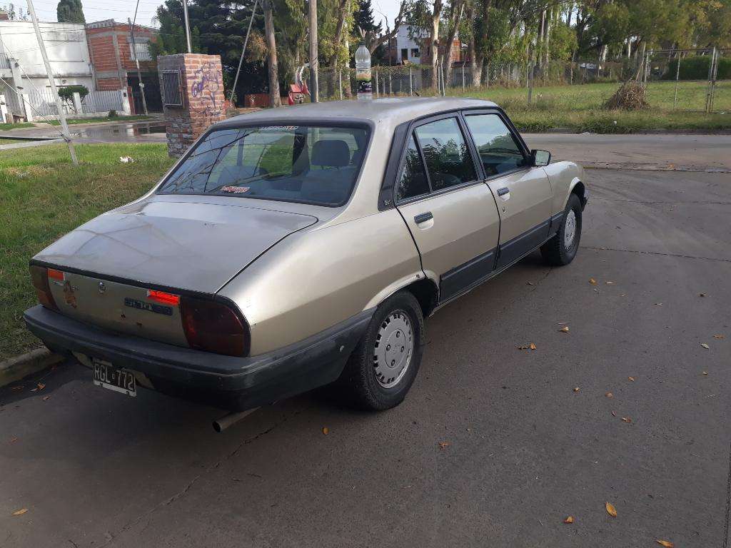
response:
M88 219L140 197L173 160L164 143L66 145L0 151L0 361L39 346L23 324L36 302L28 261ZM122 164L120 156L135 162Z

